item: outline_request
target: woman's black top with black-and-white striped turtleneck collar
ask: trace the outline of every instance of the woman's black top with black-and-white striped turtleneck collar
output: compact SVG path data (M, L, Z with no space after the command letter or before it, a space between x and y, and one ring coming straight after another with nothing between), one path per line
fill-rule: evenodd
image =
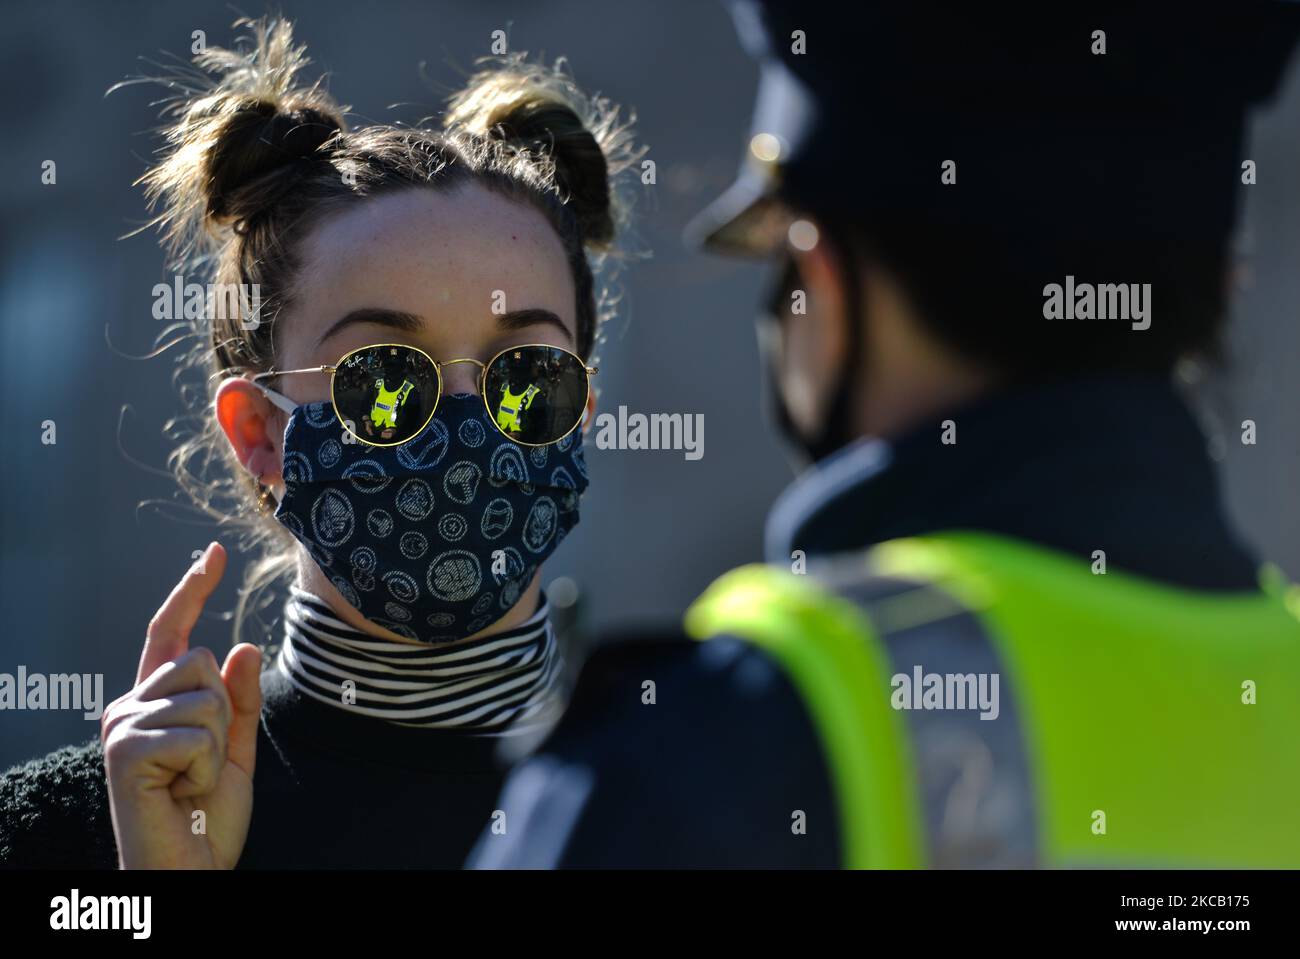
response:
M376 641L300 590L285 622L238 868L459 868L512 745L562 699L545 598L528 622L446 647ZM98 741L0 776L0 867L117 868Z

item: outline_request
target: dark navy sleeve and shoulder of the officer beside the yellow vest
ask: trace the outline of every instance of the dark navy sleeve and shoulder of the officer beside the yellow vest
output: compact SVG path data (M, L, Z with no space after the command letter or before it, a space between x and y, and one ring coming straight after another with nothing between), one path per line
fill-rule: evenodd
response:
M506 828L484 832L471 868L840 864L803 703L767 654L729 637L595 652L499 808Z

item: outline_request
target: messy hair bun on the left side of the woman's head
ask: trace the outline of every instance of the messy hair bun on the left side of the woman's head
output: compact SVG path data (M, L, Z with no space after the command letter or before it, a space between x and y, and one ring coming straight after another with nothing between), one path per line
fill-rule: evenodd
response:
M240 19L250 35L235 49L209 47L198 70L161 78L178 91L164 114L164 159L140 182L153 220L174 252L188 253L221 226L270 208L308 164L344 131L343 112L320 87L299 86L311 61L285 19Z

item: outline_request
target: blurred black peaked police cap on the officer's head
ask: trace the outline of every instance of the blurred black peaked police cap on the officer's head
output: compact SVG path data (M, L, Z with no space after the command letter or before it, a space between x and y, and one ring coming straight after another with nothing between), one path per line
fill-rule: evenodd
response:
M1247 109L1300 35L1300 4L1280 1L729 5L758 100L740 178L688 239L754 255L784 242L790 208L1226 233Z

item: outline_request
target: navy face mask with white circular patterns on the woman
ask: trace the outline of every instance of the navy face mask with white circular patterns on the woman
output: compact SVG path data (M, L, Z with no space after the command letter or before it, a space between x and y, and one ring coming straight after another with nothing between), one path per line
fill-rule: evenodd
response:
M520 446L480 396L455 394L402 446L344 437L330 403L294 408L276 518L348 603L399 635L442 643L486 629L577 524L581 429Z

